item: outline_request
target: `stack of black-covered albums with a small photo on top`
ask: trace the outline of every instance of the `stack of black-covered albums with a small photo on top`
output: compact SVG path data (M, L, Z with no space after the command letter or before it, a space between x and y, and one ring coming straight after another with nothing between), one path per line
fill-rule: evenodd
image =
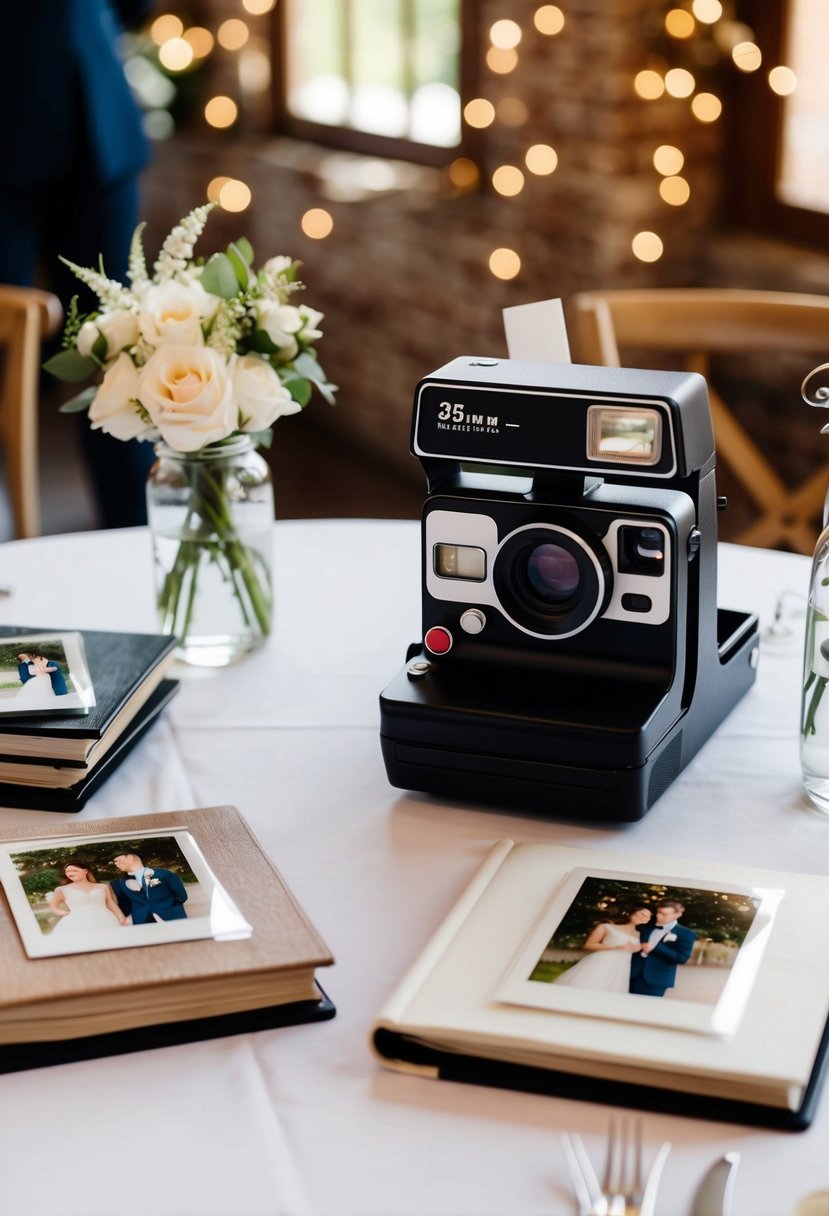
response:
M175 638L0 629L0 806L79 811L179 688Z

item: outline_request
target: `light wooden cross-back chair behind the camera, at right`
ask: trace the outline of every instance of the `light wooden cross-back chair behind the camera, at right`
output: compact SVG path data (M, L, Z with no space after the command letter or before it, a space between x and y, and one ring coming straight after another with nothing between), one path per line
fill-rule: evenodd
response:
M705 376L717 457L757 512L756 520L732 539L812 552L829 463L796 489L786 486L711 385L709 372L711 355L802 353L802 376L790 394L799 406L802 378L816 364L829 360L829 297L704 287L583 292L570 300L568 311L580 362L619 367L620 350L633 348L648 356L653 353L650 367L660 366L660 355L679 354L686 370Z

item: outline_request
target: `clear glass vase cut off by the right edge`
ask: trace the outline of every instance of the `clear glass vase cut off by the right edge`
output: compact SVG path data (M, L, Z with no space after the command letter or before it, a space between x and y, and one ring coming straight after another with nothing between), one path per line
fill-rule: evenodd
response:
M812 805L829 815L829 528L818 537L806 608L800 762Z

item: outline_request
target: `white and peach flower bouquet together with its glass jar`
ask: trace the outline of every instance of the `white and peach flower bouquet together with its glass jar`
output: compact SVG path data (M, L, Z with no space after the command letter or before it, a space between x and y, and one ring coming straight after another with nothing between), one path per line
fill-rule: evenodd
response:
M255 270L244 238L193 257L214 206L173 229L152 275L140 225L129 286L62 259L100 308L81 315L73 299L62 349L45 365L75 383L102 377L64 412L88 410L94 428L157 444L148 508L160 627L193 662L190 643L208 638L205 663L229 662L270 630L273 507L254 449L270 446L273 423L315 388L329 402L335 392L314 351L322 314L300 298L298 263L276 257ZM232 601L232 618L216 615L218 598Z

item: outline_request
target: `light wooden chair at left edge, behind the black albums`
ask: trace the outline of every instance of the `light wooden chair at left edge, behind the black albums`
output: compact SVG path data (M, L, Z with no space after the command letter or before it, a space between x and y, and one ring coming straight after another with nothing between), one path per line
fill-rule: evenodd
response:
M38 494L38 383L40 342L63 310L57 295L0 285L0 444L19 537L40 533Z

